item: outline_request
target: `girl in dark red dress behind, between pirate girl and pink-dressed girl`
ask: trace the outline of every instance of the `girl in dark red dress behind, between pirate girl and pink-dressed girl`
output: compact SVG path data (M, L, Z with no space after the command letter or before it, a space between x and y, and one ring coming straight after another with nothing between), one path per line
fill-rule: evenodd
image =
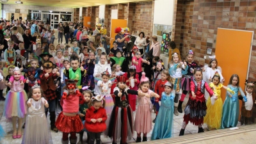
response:
M136 74L136 67L132 65L129 67L129 70L125 72L124 77L126 80L126 85L129 86L130 90L138 90L138 84L140 83L139 75ZM136 99L137 95L128 94L129 104L132 108L132 111L136 110Z

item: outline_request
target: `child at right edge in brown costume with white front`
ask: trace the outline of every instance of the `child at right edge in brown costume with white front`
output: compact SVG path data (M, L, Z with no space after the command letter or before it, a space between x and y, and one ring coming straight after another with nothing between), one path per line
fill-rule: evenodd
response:
M246 91L245 91L245 95L246 95L246 99L244 99L244 97L242 95L238 95L238 99L242 100L242 107L241 107L241 118L240 118L240 122L241 125L248 125L248 119L250 119L252 117L252 113L253 113L253 104L256 104L256 96L255 96L255 81L254 82L248 82L246 80L245 84L246 84Z

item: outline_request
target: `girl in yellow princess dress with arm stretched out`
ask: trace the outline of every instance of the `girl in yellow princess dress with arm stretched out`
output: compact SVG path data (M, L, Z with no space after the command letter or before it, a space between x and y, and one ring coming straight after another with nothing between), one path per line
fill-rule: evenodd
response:
M212 77L212 82L209 84L210 88L212 88L214 95L218 97L218 99L214 102L214 104L211 104L211 99L209 98L207 100L206 106L207 111L206 115L204 117L204 123L208 125L208 129L220 129L221 126L221 116L222 116L222 106L223 102L221 99L221 88L225 88L228 92L234 94L230 88L227 86L223 86L223 84L220 83L220 75L218 72L214 74Z

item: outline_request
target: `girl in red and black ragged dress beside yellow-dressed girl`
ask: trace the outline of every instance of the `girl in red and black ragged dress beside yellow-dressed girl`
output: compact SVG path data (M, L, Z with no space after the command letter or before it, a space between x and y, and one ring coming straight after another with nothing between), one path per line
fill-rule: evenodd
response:
M211 97L212 95L214 96L211 88L204 80L202 80L202 69L200 67L195 68L194 77L195 78L190 82L191 93L189 94L189 100L184 109L184 121L179 136L184 135L184 131L189 121L193 125L198 125L198 133L204 132L202 125L204 124L204 116L206 115L207 109L204 90L206 89ZM216 97L214 97L214 99L216 100Z

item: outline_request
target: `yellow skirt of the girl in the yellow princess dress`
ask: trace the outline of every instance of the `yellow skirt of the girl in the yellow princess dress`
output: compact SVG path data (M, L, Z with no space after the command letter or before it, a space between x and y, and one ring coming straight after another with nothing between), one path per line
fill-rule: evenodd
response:
M207 100L206 115L204 117L204 123L208 125L209 129L220 129L221 127L221 116L222 116L222 99L218 96L218 99L211 104L211 98Z

